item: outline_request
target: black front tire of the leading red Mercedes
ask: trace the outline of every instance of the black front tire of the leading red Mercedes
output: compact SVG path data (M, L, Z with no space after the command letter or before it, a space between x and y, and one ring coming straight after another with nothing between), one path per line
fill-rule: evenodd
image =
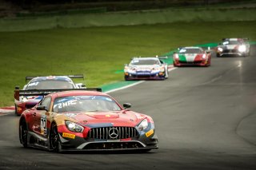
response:
M51 152L61 152L62 147L58 136L58 128L55 123L53 123L50 127L49 144Z

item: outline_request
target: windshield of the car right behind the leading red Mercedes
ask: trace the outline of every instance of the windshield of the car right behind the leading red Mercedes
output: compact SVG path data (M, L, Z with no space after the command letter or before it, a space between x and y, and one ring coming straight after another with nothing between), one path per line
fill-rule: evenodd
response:
M74 85L70 81L33 81L30 82L26 89L74 89Z

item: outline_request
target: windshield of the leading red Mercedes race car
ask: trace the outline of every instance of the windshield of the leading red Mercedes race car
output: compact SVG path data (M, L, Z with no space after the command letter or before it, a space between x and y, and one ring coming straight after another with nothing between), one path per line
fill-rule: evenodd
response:
M56 113L108 112L121 110L113 99L105 96L58 97L55 99L53 107L53 111Z

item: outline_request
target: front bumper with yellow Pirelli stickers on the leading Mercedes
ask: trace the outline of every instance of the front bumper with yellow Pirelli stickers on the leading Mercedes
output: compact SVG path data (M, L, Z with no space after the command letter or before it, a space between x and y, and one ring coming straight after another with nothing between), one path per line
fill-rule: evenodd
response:
M64 127L62 127L64 129ZM60 131L62 131L60 129ZM103 134L106 134L101 130ZM102 133L97 131L95 137L101 139L86 137L83 133L62 131L58 132L62 151L119 151L119 150L143 150L158 148L158 136L156 136L154 128L148 128L146 132L140 131L136 136L106 140L102 139ZM121 131L120 131L121 132ZM131 132L129 131L131 134ZM96 134L96 133L95 133ZM95 135L94 134L94 135ZM120 133L121 136L121 133Z

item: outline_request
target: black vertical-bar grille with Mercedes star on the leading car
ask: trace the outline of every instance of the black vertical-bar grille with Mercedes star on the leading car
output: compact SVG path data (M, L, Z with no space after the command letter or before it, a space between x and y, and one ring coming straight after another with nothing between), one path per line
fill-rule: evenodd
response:
M95 140L118 140L138 136L138 131L133 127L104 127L91 128L88 138Z

